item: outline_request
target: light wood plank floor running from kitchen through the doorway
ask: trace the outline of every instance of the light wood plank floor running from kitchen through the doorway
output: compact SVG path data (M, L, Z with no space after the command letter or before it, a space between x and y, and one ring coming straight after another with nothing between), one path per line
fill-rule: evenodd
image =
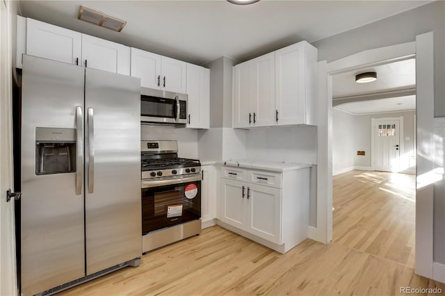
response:
M414 274L414 176L334 177L334 240L287 254L220 227L61 295L399 295L445 285ZM445 292L443 292L445 293Z

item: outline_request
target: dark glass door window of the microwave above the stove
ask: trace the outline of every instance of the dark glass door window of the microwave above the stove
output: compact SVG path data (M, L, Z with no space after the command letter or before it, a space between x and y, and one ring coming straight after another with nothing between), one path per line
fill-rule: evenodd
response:
M176 118L177 101L159 97L140 96L140 115Z

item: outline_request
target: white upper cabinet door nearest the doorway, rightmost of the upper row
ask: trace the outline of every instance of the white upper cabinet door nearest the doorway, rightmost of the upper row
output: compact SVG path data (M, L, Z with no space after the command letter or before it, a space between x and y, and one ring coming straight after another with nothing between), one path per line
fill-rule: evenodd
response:
M275 51L277 124L305 123L304 42Z

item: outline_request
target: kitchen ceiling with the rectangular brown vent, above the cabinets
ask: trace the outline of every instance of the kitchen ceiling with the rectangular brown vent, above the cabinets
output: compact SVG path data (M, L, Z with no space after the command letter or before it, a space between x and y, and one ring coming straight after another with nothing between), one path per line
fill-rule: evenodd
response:
M431 1L19 1L24 17L204 65L314 42ZM79 21L79 6L127 20L121 33Z

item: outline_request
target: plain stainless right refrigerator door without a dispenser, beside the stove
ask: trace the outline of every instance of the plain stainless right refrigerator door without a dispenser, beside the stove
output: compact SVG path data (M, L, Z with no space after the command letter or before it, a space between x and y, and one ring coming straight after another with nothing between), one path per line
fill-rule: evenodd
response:
M87 68L85 83L89 275L142 255L140 79Z

